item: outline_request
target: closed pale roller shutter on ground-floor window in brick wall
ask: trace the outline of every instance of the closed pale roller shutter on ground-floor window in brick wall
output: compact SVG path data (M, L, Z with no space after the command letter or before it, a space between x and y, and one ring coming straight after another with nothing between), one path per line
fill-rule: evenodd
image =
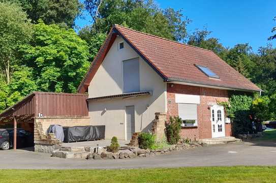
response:
M195 119L197 120L197 104L178 104L178 115L184 119Z

